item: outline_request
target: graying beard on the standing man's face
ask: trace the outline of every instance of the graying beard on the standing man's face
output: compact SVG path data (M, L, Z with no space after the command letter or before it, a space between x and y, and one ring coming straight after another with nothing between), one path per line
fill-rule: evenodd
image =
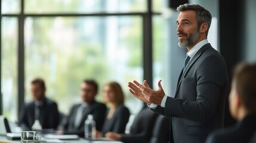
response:
M193 45L193 43L198 41L199 38L200 38L199 29L196 29L195 32L189 35L189 38L187 40L178 41L178 46L180 46L181 48L186 48L187 46Z

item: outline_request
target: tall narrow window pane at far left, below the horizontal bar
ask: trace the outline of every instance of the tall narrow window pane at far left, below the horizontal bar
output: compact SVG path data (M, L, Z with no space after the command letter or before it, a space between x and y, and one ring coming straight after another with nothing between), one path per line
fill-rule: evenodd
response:
M1 39L1 93L3 114L17 120L17 46L18 21L16 17L2 18Z

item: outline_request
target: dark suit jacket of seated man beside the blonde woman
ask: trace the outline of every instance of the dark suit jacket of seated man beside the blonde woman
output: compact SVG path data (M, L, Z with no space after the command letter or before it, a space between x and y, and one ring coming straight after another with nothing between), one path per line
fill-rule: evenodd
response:
M75 128L75 117L76 113L78 111L78 108L81 106L81 104L73 105L69 112L69 116L67 116L67 119L64 120L61 125L58 127L58 129L64 129L64 134L76 134L79 136L84 136L84 125L85 120L87 119L88 114L93 115L93 119L96 122L96 129L101 130L103 123L104 123L104 117L106 114L107 107L105 104L92 101L88 103L87 107L85 107L84 112L82 113L82 121L78 128Z

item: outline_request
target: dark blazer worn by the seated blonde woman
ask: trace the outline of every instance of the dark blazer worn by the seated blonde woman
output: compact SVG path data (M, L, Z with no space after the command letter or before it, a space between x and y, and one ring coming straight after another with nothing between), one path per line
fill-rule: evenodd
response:
M109 113L107 110L106 116ZM101 133L107 132L125 133L125 128L129 121L129 110L124 104L118 105L111 119L105 118Z

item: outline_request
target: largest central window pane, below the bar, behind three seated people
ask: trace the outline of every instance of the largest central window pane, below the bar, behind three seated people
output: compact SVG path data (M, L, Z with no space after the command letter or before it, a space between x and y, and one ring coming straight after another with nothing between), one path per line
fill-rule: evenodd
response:
M134 102L127 83L143 78L141 23L138 16L27 17L26 91L34 77L44 77L48 97L67 113L81 100L83 79L96 79L100 85L115 80L126 92L126 103ZM101 90L98 100L100 96Z

